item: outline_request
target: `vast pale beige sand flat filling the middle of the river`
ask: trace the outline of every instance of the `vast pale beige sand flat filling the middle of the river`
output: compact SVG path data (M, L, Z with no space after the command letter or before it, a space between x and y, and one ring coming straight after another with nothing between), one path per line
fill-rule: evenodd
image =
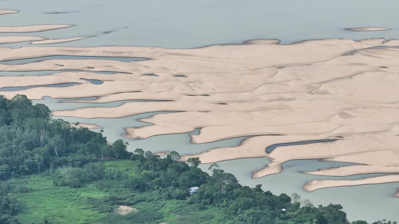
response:
M55 116L119 118L145 112L154 125L126 127L128 138L191 132L193 143L251 136L237 147L211 149L197 155L202 163L228 159L269 157L272 163L253 177L279 173L294 159L325 159L365 164L315 171L340 176L391 172L399 167L399 49L383 39L353 41L326 39L280 45L276 40L253 40L239 45L211 45L196 49L159 47L22 47L2 48L0 60L47 55L146 57L150 60L42 60L20 65L0 64L0 71L83 69L120 71L115 75L59 73L43 77L0 77L3 85L83 83L64 88L38 87L3 91L7 98L26 94L31 99L99 96L84 102L129 99L172 100L129 102L115 108L54 111ZM344 55L352 52L351 55ZM63 65L59 67L59 65ZM145 76L156 74L158 77ZM187 75L187 78L174 77ZM102 85L82 82L100 79ZM140 91L140 92L138 92ZM67 100L71 102L71 100ZM82 101L83 102L83 101ZM279 134L280 136L275 136ZM337 136L343 136L337 137ZM328 143L265 148L277 143L339 139ZM367 168L366 168L367 167Z

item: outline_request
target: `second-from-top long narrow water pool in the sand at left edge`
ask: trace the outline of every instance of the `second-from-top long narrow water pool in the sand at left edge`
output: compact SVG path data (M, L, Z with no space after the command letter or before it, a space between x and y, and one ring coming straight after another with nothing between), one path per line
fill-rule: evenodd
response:
M79 70L79 69L65 69L65 70L41 70L41 71L0 71L0 76L41 76L41 75L51 75L57 74L61 72L90 72L90 73L98 73L98 74L107 74L114 75L115 73L129 74L128 72L119 72L119 71L90 71L90 70Z

